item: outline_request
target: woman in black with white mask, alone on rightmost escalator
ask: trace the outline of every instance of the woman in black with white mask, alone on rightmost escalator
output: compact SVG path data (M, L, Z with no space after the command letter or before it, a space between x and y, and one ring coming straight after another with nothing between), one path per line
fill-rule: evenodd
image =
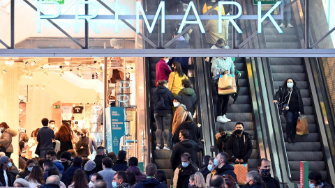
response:
M286 122L286 141L295 143L295 135L297 134L297 120L299 113L304 114L304 103L294 79L288 78L280 86L276 95L274 95L274 104L278 104L279 114L285 113ZM282 105L288 104L286 111L283 111Z

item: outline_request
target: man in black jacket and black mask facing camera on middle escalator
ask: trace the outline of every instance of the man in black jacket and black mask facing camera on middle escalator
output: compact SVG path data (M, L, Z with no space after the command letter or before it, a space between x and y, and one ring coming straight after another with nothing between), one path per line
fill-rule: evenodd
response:
M253 142L251 141L251 136L244 132L243 123L236 123L235 130L227 141L226 151L231 156L230 161L232 163L244 164L248 162L253 152Z

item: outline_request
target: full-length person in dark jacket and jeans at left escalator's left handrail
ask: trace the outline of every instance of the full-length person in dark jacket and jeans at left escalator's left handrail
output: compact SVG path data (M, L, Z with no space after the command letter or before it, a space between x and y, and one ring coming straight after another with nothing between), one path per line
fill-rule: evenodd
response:
M168 147L168 139L170 135L170 124L172 120L173 95L168 89L168 81L158 80L157 88L152 95L154 100L154 118L157 125L156 130L156 150L160 150L162 146L162 137L164 141L164 150L170 150ZM163 133L163 136L162 136Z

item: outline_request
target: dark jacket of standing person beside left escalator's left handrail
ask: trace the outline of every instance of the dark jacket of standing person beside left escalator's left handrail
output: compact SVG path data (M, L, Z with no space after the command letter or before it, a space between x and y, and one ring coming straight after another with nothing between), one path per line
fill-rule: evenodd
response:
M154 107L155 107L155 113L170 113L172 114L172 105L173 105L173 94L172 92L164 87L157 87L154 91L154 94L152 95L154 99ZM163 97L164 104L166 109L159 109L158 107L161 107L162 104L158 104L158 102L161 102L161 97Z

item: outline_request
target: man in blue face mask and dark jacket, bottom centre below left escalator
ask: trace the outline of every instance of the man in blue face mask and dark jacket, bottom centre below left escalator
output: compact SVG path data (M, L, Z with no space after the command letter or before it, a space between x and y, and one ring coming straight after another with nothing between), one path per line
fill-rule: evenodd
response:
M180 159L181 165L174 171L174 188L188 187L190 176L198 171L198 168L192 164L191 155L188 152L184 152L184 154L180 156Z

